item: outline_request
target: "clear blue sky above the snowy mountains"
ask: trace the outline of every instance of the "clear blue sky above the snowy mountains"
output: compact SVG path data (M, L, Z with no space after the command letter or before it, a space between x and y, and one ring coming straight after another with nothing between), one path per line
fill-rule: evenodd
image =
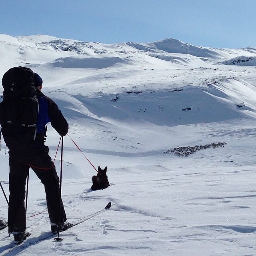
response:
M256 46L255 11L256 0L1 0L0 33L242 48Z

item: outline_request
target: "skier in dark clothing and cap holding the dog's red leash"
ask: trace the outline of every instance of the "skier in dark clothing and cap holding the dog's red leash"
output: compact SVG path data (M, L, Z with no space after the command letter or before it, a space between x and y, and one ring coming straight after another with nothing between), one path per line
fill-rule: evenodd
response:
M22 242L27 236L24 199L29 168L32 168L44 185L52 233L57 234L58 231L66 230L71 226L66 222L66 213L60 196L60 180L48 154L49 148L44 145L48 122L60 136L68 133L68 122L56 103L41 92L42 78L37 73L34 73L34 87L39 107L35 140L25 149L19 144L16 148L9 148L8 232L14 234L16 244Z

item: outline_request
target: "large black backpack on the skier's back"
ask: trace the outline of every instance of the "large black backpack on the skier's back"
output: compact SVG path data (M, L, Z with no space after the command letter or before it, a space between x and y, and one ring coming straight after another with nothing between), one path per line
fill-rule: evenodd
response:
M34 72L30 68L10 68L2 78L0 124L10 150L29 150L36 138L38 101Z

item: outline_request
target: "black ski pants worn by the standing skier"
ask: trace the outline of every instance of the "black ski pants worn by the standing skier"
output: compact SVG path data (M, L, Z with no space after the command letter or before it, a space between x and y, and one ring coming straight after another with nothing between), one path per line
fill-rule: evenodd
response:
M36 173L44 184L46 202L51 224L66 221L66 214L60 198L59 177L52 159L48 155L48 147L42 146L30 152L9 151L9 208L8 232L26 230L25 194L26 178L29 168Z

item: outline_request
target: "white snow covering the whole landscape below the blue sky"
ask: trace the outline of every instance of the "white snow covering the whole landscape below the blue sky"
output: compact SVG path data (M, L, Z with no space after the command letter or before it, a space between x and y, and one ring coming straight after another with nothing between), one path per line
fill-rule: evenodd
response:
M112 202L110 210L60 233L62 242L51 237L36 243L50 234L50 223L44 188L31 171L32 234L8 255L255 255L256 47L0 34L0 56L1 77L20 65L40 74L43 92L70 124L62 176L68 221ZM242 66L238 59L250 61ZM110 187L90 190L96 171L70 138L96 168L107 166ZM59 139L49 124L52 158ZM224 147L184 157L171 152L218 142ZM8 196L3 140L0 163ZM55 164L60 173L60 152ZM0 203L6 219L3 194ZM7 230L0 238L2 255L13 238Z

